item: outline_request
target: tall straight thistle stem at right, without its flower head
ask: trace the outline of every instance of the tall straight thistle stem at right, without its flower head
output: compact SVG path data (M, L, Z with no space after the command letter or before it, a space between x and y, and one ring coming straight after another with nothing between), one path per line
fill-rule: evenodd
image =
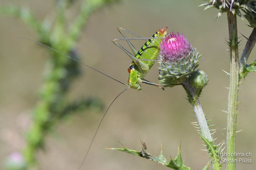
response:
M236 15L227 12L228 15L228 31L230 45L230 83L228 94L228 122L227 122L227 154L236 152L236 119L237 104L239 90L239 57L238 57L238 41L237 41L237 24ZM228 154L229 155L229 154ZM227 156L227 170L236 170L234 154ZM234 161L232 161L234 160Z

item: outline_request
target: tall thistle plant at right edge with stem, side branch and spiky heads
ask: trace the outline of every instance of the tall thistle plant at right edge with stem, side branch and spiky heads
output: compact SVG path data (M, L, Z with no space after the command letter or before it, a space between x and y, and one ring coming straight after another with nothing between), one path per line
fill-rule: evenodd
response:
M254 66L256 62L247 65L246 62L252 51L252 48L256 42L256 22L255 22L255 9L256 1L252 0L206 0L208 3L202 4L200 6L206 6L208 8L220 9L217 18L224 12L227 12L228 16L228 31L229 40L228 46L230 51L230 84L228 93L228 121L227 121L227 162L228 170L236 169L236 126L237 126L237 106L238 106L238 91L239 82L241 78L244 78L249 72L256 71ZM246 43L243 54L239 61L238 55L238 37L237 37L237 23L236 16L242 18L241 11L244 12L244 17L248 20L249 26L253 28L252 33Z

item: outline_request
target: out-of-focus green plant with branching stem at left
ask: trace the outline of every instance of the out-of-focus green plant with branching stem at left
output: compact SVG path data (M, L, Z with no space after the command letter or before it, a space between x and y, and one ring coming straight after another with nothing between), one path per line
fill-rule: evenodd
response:
M6 6L0 12L19 18L32 28L41 43L77 58L75 46L88 17L95 10L102 8L116 0L84 0L73 22L68 24L67 9L74 0L58 0L55 5L55 18L45 18L38 21L27 8ZM63 57L59 53L50 51L51 57L47 61L44 72L44 83L40 89L39 99L33 111L33 123L27 132L26 146L23 156L26 167L36 164L36 152L44 146L44 138L53 126L63 117L75 111L102 108L102 103L93 98L69 101L66 97L69 86L79 74L78 63ZM11 166L7 166L11 167ZM22 165L24 169L24 165Z

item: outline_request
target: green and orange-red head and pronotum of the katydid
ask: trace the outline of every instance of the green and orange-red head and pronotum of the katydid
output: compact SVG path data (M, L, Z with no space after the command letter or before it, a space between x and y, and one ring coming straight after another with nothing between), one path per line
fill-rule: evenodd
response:
M130 67L128 68L128 72L129 72L128 85L130 88L136 89L137 91L139 91L139 90L142 90L142 86L139 83L140 78L138 78L133 64L131 64Z

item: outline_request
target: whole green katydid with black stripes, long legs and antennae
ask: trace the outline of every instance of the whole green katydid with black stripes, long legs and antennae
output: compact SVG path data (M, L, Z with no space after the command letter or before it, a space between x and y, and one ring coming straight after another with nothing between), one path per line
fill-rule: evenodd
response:
M26 40L29 40L29 41L36 42L36 43L39 44L39 45L42 45L42 46L44 46L44 47L46 47L46 48L49 48L49 49L51 49L51 50L53 50L53 51L55 51L55 52L57 52L57 53L59 53L59 54L61 54L61 55L64 55L64 56L66 56L66 57L68 57L68 58L70 58L70 59L72 59L72 60L74 60L74 61L76 61L76 62L78 62L78 63L83 64L83 65L86 66L86 67L91 68L92 70L95 70L95 71L97 71L97 72L103 74L104 76L107 76L107 77L109 77L109 78L111 78L111 79L113 79L113 80L115 80L115 81L117 81L117 82L119 82L119 83L121 83L121 84L127 86L126 89L124 89L121 93L119 93L119 94L116 96L116 98L111 102L111 104L108 106L106 112L105 112L104 115L102 116L102 118L101 118L101 120L100 120L100 123L99 123L99 125L98 125L98 127L97 127L97 129L96 129L96 131L95 131L95 133L94 133L94 136L93 136L93 138L92 138L92 141L91 141L91 143L90 143L90 145L89 145L89 147L88 147L88 149L87 149L87 151L86 151L86 154L85 154L85 156L84 156L84 159L83 159L83 161L82 161L82 163L81 163L81 165L79 166L78 169L80 169L80 168L82 167L82 165L83 165L83 163L84 163L84 161L85 161L85 159L86 159L86 157L87 157L87 155L88 155L88 153L89 153L89 151L90 151L90 148L91 148L92 143L93 143L93 141L94 141L94 139L95 139L95 136L96 136L96 134L97 134L97 132L98 132L98 130L99 130L99 128L100 128L100 125L101 125L101 123L102 123L102 121L103 121L105 115L106 115L107 112L108 112L108 109L111 107L111 105L112 105L113 102L117 99L118 96L120 96L120 95L121 95L124 91L126 91L128 88L134 88L134 89L136 89L137 91L138 91L138 90L141 90L142 87L141 87L141 85L140 85L139 83L145 83L145 84L149 84L149 85L155 85L155 86L160 87L160 88L162 88L162 89L164 89L164 88L163 88L164 86L168 86L168 85L165 85L165 84L160 85L160 84L151 83L151 82L149 82L149 81L147 81L147 80L144 79L145 75L148 73L149 69L153 66L153 64L154 64L156 61L161 61L161 60L157 60L156 58L157 58L157 55L158 55L158 53L159 53L159 51L160 51L160 48L159 48L160 43L161 43L162 39L165 37L165 35L166 35L166 33L167 33L167 32L166 32L166 29L167 29L167 27L164 27L163 29L159 29L156 33L153 34L152 37L146 38L146 37L140 37L139 35L137 35L137 34L135 34L135 33L132 33L132 32L130 32L130 31L124 29L124 28L121 28L121 27L118 28L118 31L124 36L124 38L123 38L123 39L113 39L112 42L113 42L115 45L117 45L118 47L120 47L122 50L124 50L124 52L125 52L126 54L128 54L129 57L132 59L132 64L131 64L131 65L129 66L129 68L128 68L128 72L129 72L128 85L126 85L125 83L122 83L121 81L119 81L119 80L117 80L117 79L115 79L115 78L112 78L111 76L108 76L107 74L105 74L105 73L103 73L103 72L101 72L101 71L99 71L99 70L94 69L93 67L91 67L91 66L89 66L89 65L87 65L87 64L85 64L85 63L82 63L82 62L76 60L75 58L72 58L72 57L69 56L69 55L63 54L62 52L57 51L57 50L55 50L55 49L53 49L53 48L51 48L51 47L48 47L48 46L46 46L46 45L44 45L44 44L42 44L42 43L40 43L40 42L37 42L37 41L34 41L34 40L30 40L30 39L27 39L27 38L21 38L21 37L19 37L19 38L21 38L21 39L26 39ZM128 33L131 33L131 34L133 34L133 35L135 35L135 36L137 36L137 37L139 37L139 38L127 38L126 35L122 32L122 30L124 30L124 31L126 31L126 32L128 32ZM121 45L119 45L119 44L116 42L116 41L118 41L118 40L125 40L125 41L127 41L128 44L129 44L129 46L130 46L130 48L132 49L133 55L132 55L130 52L128 52L125 48L123 48ZM134 48L134 46L132 45L132 43L130 42L130 40L146 40L146 43L140 48L139 51L137 51L137 50Z

